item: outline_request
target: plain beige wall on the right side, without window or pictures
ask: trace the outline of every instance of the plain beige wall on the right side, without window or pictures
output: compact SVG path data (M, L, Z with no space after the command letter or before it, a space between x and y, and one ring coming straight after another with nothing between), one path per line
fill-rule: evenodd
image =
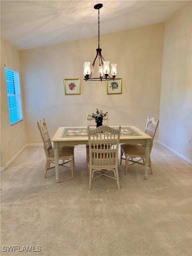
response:
M191 159L191 3L165 22L159 141Z

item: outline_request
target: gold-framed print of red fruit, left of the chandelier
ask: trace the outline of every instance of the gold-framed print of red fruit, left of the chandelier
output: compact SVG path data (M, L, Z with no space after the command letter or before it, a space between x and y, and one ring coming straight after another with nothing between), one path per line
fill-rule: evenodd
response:
M81 94L80 79L64 79L65 95Z

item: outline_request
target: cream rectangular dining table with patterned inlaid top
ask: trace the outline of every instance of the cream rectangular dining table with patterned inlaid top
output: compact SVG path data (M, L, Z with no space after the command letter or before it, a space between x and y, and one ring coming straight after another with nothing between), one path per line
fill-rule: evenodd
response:
M118 126L111 126L118 128ZM95 127L96 128L96 127ZM152 137L135 126L121 126L119 144L140 144L145 147L145 174L148 179L149 146ZM56 183L59 183L59 148L64 146L88 145L87 127L59 127L51 139L54 146Z

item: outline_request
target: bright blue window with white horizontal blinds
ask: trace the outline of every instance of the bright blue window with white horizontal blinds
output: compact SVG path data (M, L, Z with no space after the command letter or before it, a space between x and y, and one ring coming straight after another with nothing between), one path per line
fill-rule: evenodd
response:
M23 120L19 73L5 68L10 124Z

